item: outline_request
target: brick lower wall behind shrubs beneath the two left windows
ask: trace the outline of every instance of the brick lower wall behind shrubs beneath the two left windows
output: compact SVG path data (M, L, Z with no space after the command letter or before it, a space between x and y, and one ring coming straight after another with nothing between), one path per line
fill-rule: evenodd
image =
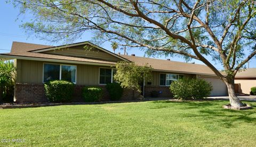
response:
M76 85L73 102L82 102L82 88L86 85ZM97 85L103 89L102 101L109 101L109 93L107 92L105 85ZM124 89L121 100L132 100L133 92L130 89ZM137 99L140 93L134 91L134 99ZM45 97L44 85L43 84L27 84L27 83L16 83L14 101L19 103L25 102L47 102Z

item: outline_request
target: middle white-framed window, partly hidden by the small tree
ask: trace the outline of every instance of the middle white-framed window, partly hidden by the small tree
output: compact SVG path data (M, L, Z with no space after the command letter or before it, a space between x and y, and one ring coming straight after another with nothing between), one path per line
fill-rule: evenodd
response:
M100 68L99 71L99 84L113 83L116 69L114 68Z

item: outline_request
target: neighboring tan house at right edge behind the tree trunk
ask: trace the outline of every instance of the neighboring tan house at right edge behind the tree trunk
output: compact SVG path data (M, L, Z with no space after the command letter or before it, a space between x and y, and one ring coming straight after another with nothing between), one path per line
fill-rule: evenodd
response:
M235 83L238 84L239 93L250 94L251 88L256 87L256 68L237 72Z

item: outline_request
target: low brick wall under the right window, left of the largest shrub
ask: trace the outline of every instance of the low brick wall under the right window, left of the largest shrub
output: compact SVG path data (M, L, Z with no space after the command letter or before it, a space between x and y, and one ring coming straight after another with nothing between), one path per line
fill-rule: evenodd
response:
M145 86L145 97L151 97L151 91L162 91L162 93L159 93L158 97L161 98L172 98L173 94L171 93L170 87L165 87L165 86L151 86L151 85L146 85Z

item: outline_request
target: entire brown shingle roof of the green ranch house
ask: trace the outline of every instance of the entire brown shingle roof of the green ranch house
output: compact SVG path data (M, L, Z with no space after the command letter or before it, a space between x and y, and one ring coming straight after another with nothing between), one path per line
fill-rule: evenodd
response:
M101 64L101 65L114 65L115 62L108 62L98 59L70 57L61 55L52 55L37 53L35 50L49 49L52 46L28 44L23 42L13 42L11 53L1 54L4 58L29 58L31 60L54 60L55 62L77 62L79 64ZM118 55L116 55L118 56ZM170 60L145 58L137 56L121 55L120 58L125 58L134 62L137 65L145 65L148 63L154 68L154 71L162 72L174 72L174 73L191 73L191 74L202 74L202 75L215 75L212 70L201 64L191 64L183 62L174 62Z

